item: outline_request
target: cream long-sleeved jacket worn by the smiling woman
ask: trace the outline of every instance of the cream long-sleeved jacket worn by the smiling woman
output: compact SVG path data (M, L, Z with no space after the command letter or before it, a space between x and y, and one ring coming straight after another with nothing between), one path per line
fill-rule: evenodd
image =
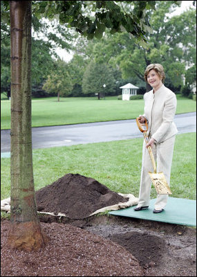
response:
M161 143L178 133L173 118L176 113L176 95L162 84L153 93L153 89L144 94L144 115L149 121L147 133L156 143Z

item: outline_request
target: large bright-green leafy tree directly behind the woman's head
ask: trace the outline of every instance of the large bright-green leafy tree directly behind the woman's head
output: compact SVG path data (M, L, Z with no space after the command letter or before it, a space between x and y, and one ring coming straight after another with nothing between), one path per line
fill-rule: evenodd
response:
M196 61L196 11L191 8L171 17L175 8L173 1L156 1L156 10L150 11L153 31L147 44L139 44L128 33L112 36L106 30L99 41L93 39L87 47L79 44L79 51L84 48L86 58L107 62L122 72L122 79L132 78L138 87L145 85L146 66L159 62L165 66L167 87L180 92L185 71Z

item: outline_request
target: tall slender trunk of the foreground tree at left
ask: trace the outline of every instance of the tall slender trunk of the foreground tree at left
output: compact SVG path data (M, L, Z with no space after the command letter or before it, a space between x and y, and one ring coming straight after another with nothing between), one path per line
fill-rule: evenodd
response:
M8 244L37 250L44 244L32 171L31 1L10 1L11 220Z

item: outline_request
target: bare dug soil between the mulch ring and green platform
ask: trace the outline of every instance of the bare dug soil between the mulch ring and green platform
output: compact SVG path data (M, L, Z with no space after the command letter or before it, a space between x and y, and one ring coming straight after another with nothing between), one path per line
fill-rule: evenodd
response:
M84 228L138 258L142 276L196 276L196 228L112 215L92 223Z

